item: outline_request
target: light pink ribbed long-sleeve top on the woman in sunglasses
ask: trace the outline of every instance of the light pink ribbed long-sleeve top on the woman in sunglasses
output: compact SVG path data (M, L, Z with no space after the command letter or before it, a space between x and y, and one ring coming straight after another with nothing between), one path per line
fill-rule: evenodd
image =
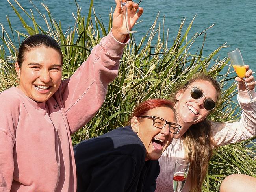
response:
M254 90L251 91L256 98ZM211 122L213 138L217 146L239 142L256 135L256 102L245 104L250 101L246 91L238 90L237 100L243 113L241 120L236 122ZM173 192L173 175L176 159L184 159L185 151L182 139L173 139L170 146L159 159L160 174L156 180L156 192ZM189 192L189 180L186 181L182 192Z

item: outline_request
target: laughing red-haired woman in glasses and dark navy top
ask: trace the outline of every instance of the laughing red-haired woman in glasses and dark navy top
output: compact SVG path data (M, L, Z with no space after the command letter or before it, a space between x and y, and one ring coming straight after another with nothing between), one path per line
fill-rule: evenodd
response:
M179 130L172 102L142 102L129 126L74 146L77 191L154 192L158 158Z

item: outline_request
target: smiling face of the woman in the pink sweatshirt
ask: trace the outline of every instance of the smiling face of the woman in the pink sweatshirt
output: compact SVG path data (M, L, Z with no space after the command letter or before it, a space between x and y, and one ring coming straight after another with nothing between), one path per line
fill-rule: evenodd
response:
M36 102L47 101L61 83L61 61L53 48L40 46L26 52L22 66L15 63L19 89Z

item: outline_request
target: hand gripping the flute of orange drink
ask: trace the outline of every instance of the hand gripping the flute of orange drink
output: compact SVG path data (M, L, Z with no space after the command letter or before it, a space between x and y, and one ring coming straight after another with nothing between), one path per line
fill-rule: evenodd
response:
M256 85L256 81L254 79L254 76L252 76L252 70L249 69L249 65L245 65L245 68L246 68L245 81L247 82L249 90L252 90ZM243 83L241 78L236 77L235 80L238 82L239 90L246 90L245 83Z

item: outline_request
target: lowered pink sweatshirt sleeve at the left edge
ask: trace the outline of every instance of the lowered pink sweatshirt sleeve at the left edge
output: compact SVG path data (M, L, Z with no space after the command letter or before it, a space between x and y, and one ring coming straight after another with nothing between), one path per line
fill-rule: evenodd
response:
M19 103L6 92L0 93L0 101L0 192L8 192L13 182L13 147Z

